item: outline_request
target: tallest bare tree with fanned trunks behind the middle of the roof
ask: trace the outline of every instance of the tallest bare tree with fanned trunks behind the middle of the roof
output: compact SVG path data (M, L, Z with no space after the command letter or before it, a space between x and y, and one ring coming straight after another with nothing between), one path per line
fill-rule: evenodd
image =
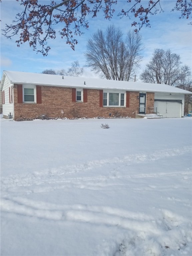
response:
M87 42L87 67L101 78L129 81L142 59L141 36L128 32L123 40L120 28L97 30Z

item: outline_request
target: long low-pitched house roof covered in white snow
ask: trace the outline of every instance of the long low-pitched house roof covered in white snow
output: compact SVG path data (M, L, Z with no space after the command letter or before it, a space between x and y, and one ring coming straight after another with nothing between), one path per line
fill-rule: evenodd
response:
M61 75L49 75L42 73L27 73L17 71L3 71L1 90L5 75L11 83L17 84L35 84L58 87L82 87L90 89L113 89L127 91L145 91L145 92L167 92L192 94L189 91L179 89L166 84L152 84L143 82L127 82L117 80L107 80L100 78L72 77Z

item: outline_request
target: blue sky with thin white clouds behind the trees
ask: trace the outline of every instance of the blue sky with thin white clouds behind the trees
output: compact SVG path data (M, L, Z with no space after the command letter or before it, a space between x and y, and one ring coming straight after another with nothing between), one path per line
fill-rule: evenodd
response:
M42 1L42 0L41 0ZM142 0L143 1L143 0ZM189 20L179 19L179 12L171 12L176 0L161 0L161 6L164 13L158 13L155 16L150 16L151 28L143 27L140 34L142 36L143 46L143 61L141 69L149 62L154 52L154 49L161 48L164 50L170 49L173 53L179 54L183 65L192 66L192 26L188 25ZM50 40L51 50L48 56L43 57L40 53L36 54L28 43L17 47L15 40L10 40L1 35L1 65L0 73L2 76L3 70L24 71L41 73L45 69L68 69L71 63L78 60L81 67L86 64L84 52L86 51L87 39L97 31L97 29L105 30L108 25L115 24L120 27L126 36L129 30L132 30L131 23L133 18L120 19L117 17L118 10L127 9L127 1L119 1L115 7L116 12L111 21L105 20L100 14L97 18L89 20L89 30L85 34L77 37L78 44L73 51L67 45L64 39L58 35L55 40ZM19 2L15 0L2 0L1 7L1 29L5 23L10 24L12 19L21 10ZM59 30L60 27L57 29ZM85 69L83 76L94 76L89 69ZM137 79L139 78L139 73Z

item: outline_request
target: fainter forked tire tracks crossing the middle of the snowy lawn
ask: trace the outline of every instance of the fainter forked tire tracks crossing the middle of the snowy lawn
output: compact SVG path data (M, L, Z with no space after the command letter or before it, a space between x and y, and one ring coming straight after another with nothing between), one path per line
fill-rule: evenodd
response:
M125 163L126 165L131 164L140 164L140 163L147 163L150 161L156 161L158 159L173 157L183 155L185 153L191 152L191 147L182 147L182 148L174 148L174 149L166 149L166 150L159 150L155 151L152 154L133 154L124 156L122 158L113 157L108 159L101 159L101 160L93 160L86 162L85 164L77 164L77 165L68 165L65 167L55 168L51 170L44 170L44 171L36 171L32 174L28 175L10 175L9 177L1 177L1 189L6 190L11 187L29 187L29 186L39 186L44 184L59 184L64 183L77 183L80 181L103 181L106 179L117 179L117 178L145 178L145 177L159 177L159 176L174 176L180 174L180 172L174 173L154 173L154 174L140 174L140 175L117 175L117 176L96 176L96 177L78 177L78 178L66 178L66 174L78 173L78 172L87 172L94 168L105 168L107 165L111 165L113 163ZM184 173L182 173L184 174ZM186 172L185 174L189 174ZM64 176L62 178L62 176ZM57 177L57 178L56 178Z

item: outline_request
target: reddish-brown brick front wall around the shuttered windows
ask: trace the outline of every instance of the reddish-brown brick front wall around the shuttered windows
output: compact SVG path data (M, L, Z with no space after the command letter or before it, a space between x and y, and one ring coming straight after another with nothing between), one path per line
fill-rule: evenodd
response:
M87 102L72 102L72 88L42 86L41 104L17 103L17 85L14 86L14 119L35 118L42 114L48 117L109 117L129 116L135 118L139 107L139 92L130 92L129 107L100 107L99 90L87 90ZM150 98L152 95L150 96ZM152 102L147 100L147 104ZM153 95L154 104L154 95ZM61 113L63 110L64 114Z

